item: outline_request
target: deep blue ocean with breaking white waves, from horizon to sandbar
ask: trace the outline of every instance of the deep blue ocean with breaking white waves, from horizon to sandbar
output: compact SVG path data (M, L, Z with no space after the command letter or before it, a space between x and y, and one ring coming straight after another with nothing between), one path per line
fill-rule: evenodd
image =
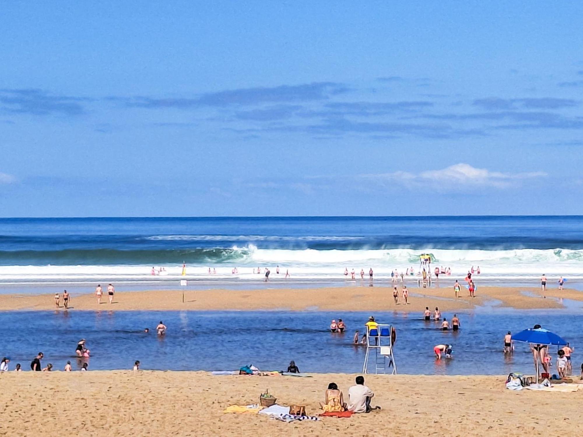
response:
M422 253L433 256L431 270L449 267L452 278L479 266L479 282L492 285L531 284L545 273L571 286L583 279L583 217L0 219L3 292L96 282L118 290L176 288L180 279L248 287L266 267L272 286L333 286L346 283L345 269L357 280L361 269L366 278L372 268L375 279L417 273Z

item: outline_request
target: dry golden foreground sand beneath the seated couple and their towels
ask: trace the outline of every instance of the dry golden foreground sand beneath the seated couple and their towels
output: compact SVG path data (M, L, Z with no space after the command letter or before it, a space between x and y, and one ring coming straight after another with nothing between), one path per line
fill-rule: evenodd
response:
M318 414L329 382L355 375L212 376L206 372L7 372L0 375L0 435L87 436L524 436L580 435L583 392L504 387L504 376L370 375L381 411L286 424L228 414L269 389L280 404Z

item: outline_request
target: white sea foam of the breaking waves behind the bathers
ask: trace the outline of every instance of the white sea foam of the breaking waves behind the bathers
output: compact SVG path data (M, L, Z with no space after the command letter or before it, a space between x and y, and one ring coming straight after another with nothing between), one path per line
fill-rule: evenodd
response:
M270 267L272 277L282 277L289 270L293 279L340 279L343 272L354 269L360 277L360 269L368 274L370 267L375 278L389 277L392 270L405 272L413 267L419 270L419 254L432 253L435 266L451 267L452 278L465 276L474 266L480 266L484 279L535 279L545 273L549 277L560 275L569 278L583 277L583 251L568 249L516 249L507 251L453 250L453 249L374 249L374 250L327 250L315 249L258 249L249 245L234 247L247 255L231 263L215 265L188 265L186 279L237 278L257 280L265 267ZM236 263L236 264L235 264ZM276 266L280 274L276 274ZM233 274L233 267L238 273ZM178 281L182 279L180 262L166 265L167 276L152 276L151 265L92 265L92 266L0 266L0 283L28 283L31 281L62 283L66 281L140 281L156 279ZM208 267L216 274L208 274ZM261 274L253 273L261 267ZM257 270L255 270L257 272Z

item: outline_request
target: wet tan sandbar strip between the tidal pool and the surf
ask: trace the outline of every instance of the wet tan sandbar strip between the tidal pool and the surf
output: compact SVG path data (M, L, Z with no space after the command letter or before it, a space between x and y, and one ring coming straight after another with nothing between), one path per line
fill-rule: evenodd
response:
M277 310L290 311L400 311L420 312L426 306L442 311L469 310L476 306L494 306L517 309L563 308L561 299L583 301L583 292L576 290L547 290L543 297L538 287L479 287L475 298L462 288L455 298L452 287L409 288L409 304L405 305L399 285L399 302L395 304L392 287L333 287L314 289L258 289L258 290L150 290L116 292L113 304L107 296L97 305L93 293L72 295L69 309L73 310ZM2 310L55 309L52 294L1 294ZM61 309L62 297L61 297Z

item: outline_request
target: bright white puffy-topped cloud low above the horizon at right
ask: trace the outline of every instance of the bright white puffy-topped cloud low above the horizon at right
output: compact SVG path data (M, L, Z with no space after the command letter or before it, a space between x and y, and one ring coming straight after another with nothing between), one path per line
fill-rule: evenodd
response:
M455 164L441 170L423 171L414 174L397 171L385 174L363 175L379 182L398 182L409 186L432 186L436 188L464 188L465 186L491 186L505 188L522 179L546 177L545 172L515 172L504 173L490 171L486 168L472 167L470 164Z

